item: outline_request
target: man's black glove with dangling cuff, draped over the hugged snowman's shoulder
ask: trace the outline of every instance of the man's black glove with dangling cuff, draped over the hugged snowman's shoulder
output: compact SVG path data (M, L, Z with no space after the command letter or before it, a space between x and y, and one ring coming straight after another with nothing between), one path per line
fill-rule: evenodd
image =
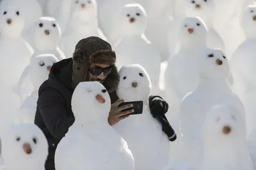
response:
M168 111L168 103L160 96L150 96L148 103L152 116L157 118L162 124L162 131L168 136L170 141L175 141L177 139L175 131L164 115Z

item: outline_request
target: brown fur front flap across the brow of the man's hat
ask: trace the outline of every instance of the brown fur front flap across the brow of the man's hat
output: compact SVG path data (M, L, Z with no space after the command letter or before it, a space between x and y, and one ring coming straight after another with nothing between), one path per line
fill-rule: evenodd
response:
M116 53L113 50L98 50L90 56L89 63L109 64L116 62Z

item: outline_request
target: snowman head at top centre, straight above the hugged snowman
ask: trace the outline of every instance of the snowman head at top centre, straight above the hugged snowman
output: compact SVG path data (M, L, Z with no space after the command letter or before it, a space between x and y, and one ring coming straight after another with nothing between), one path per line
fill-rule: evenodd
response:
M147 13L140 4L125 5L118 17L124 36L143 34L147 28Z

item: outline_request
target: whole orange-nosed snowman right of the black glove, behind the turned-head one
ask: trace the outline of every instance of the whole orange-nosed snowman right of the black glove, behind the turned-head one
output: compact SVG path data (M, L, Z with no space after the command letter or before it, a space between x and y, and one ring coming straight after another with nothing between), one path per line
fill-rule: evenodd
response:
M198 17L187 17L182 20L179 29L179 52L168 60L168 67L164 75L164 87L168 103L170 104L169 120L176 122L179 129L179 106L182 98L198 85L196 73L196 53L206 48L207 28Z

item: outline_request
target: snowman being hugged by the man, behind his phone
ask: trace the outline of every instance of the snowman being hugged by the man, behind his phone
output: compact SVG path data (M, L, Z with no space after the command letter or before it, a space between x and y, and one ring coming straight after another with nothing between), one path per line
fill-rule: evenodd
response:
M130 115L113 127L127 141L134 156L135 169L163 169L168 165L170 141L159 120L150 113L148 96L151 82L148 73L142 66L132 64L123 66L119 75L116 94L125 102L143 101L143 113ZM170 140L173 141L175 136L174 133Z

